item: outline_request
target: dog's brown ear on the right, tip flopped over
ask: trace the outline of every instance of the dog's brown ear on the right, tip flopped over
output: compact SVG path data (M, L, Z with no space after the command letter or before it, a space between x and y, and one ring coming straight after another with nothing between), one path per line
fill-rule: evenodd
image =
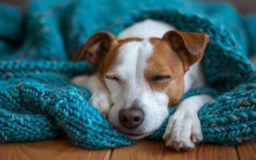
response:
M172 30L167 32L163 39L169 42L173 50L180 56L184 70L189 70L189 66L200 61L205 52L205 47L209 42L208 34L182 32Z

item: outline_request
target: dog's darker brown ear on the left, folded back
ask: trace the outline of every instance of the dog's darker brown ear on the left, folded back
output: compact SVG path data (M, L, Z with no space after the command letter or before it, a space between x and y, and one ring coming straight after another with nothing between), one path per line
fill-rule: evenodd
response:
M116 37L109 32L97 32L88 38L87 42L81 46L78 54L73 59L78 61L86 54L87 61L97 66L105 57Z

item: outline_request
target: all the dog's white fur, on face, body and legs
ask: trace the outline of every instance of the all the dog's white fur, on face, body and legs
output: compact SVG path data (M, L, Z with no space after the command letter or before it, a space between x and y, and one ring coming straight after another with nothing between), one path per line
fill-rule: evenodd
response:
M109 122L124 132L132 134L152 132L161 126L161 123L168 116L167 95L150 90L143 73L153 50L152 44L147 39L151 37L161 38L169 30L173 30L173 27L165 22L145 20L120 33L119 38L138 37L144 38L144 41L128 42L120 47L118 54L120 65L117 65L116 69L111 70L108 74L116 74L121 81L113 82L105 79L108 89L100 80L97 80L97 76L89 78L89 80L83 77L79 81L73 81L76 84L80 81L87 81L86 84L80 84L91 90L92 104L109 114ZM201 65L196 63L185 74L185 91L198 86L204 86L204 78ZM110 99L113 106L109 111ZM202 140L201 124L197 112L205 102L209 102L211 99L206 95L197 95L181 102L177 111L169 118L163 137L166 146L173 147L175 150L186 150L192 149L197 142ZM139 101L141 109L144 110L144 122L135 130L126 130L118 122L118 113L122 108L131 106L135 100Z

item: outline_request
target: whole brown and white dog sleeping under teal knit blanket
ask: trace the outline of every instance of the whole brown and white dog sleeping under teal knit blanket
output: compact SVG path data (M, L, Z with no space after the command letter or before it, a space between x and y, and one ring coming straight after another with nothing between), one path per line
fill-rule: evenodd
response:
M73 82L91 91L91 104L117 130L129 137L144 138L168 117L168 107L181 101L193 87L204 86L201 60L209 36L174 30L165 22L144 20L116 38L108 32L91 36L83 54L97 72ZM182 101L169 118L163 139L175 150L193 149L202 140L198 110L208 95Z

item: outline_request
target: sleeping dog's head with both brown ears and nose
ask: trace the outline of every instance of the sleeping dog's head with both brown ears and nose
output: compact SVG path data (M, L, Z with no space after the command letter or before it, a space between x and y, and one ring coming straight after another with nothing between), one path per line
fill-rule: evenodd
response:
M77 59L86 54L110 91L109 122L132 138L142 138L161 126L168 106L181 101L184 74L201 60L208 40L207 34L178 30L149 39L98 32Z

